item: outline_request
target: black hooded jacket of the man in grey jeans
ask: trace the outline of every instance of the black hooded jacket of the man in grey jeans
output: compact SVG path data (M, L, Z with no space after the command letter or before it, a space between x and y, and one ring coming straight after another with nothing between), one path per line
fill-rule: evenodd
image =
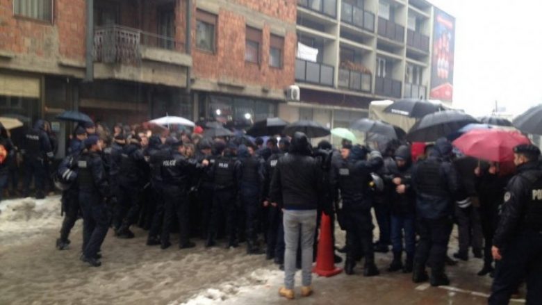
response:
M295 133L290 153L279 158L270 186L270 199L286 210L315 210L322 190L322 170L311 156L309 140ZM324 208L324 207L322 207Z

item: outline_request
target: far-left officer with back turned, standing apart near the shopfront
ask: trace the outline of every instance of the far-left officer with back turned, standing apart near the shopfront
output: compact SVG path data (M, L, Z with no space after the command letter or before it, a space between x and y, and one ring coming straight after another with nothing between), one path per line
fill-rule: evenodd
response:
M35 198L43 199L45 197L44 183L47 172L45 163L54 157L45 126L45 121L40 119L35 123L34 128L25 135L23 197L28 197L32 177L34 177Z

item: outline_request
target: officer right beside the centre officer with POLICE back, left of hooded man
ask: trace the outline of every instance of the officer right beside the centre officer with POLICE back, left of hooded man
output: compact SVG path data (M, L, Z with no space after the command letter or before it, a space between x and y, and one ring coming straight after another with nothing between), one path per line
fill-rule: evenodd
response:
M241 163L240 200L245 209L247 254L263 254L258 245L258 212L263 202L264 161L254 147L240 145L238 159Z

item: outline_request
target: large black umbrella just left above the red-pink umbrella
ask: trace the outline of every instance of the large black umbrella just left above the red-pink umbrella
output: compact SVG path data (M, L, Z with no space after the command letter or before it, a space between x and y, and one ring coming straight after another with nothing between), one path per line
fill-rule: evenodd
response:
M478 123L477 119L457 110L445 110L426 115L420 119L407 134L411 142L432 142L438 138L454 133L470 123Z

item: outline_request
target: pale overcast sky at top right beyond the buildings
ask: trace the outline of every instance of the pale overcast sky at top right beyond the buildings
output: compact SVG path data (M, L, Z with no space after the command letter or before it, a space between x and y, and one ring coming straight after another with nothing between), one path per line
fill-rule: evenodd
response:
M518 115L542 104L542 1L429 0L456 18L454 106Z

